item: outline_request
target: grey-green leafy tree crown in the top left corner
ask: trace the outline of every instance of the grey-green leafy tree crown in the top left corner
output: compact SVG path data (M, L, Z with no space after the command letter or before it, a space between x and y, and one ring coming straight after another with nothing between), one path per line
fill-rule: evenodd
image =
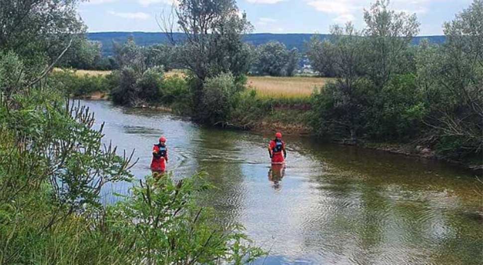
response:
M84 37L86 27L77 4L78 0L2 0L0 51L14 50L26 58L48 55L54 61L71 39Z

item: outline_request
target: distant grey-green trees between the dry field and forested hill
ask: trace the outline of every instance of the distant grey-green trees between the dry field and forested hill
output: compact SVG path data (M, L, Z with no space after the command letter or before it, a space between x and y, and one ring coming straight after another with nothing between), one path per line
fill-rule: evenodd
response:
M58 64L62 68L81 70L119 70L125 65L121 60L123 55L142 53L145 67L153 65L163 66L166 71L181 68L183 62L179 61L178 47L169 44L155 44L151 46L138 46L134 38L128 37L125 43L113 42L113 56L101 55L102 44L80 38L73 49L63 57ZM287 49L283 43L270 41L259 46L246 45L246 55L249 59L249 75L262 76L293 76L300 68L302 55L293 48Z

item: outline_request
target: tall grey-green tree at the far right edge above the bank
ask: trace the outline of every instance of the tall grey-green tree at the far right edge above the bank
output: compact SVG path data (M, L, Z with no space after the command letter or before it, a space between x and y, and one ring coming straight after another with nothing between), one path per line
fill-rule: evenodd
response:
M432 107L428 125L439 132L439 148L448 156L482 151L483 1L444 24L446 43L421 48L418 72Z

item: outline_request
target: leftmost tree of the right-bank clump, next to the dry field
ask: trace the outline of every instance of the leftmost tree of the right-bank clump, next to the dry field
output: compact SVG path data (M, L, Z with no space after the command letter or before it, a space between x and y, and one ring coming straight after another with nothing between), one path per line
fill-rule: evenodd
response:
M362 129L363 88L367 82L360 77L363 39L352 23L333 26L335 83L326 86L315 96L314 128L321 135L349 136L355 142Z

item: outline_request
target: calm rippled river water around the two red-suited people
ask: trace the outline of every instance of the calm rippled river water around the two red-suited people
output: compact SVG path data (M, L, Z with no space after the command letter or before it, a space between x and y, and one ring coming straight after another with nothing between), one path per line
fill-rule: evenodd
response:
M82 101L105 141L135 149L137 178L168 139L168 171L196 172L218 189L203 198L269 251L257 264L482 264L482 189L444 163L284 136L286 168L272 168L271 135L204 128L169 113ZM108 184L125 193L130 183Z

